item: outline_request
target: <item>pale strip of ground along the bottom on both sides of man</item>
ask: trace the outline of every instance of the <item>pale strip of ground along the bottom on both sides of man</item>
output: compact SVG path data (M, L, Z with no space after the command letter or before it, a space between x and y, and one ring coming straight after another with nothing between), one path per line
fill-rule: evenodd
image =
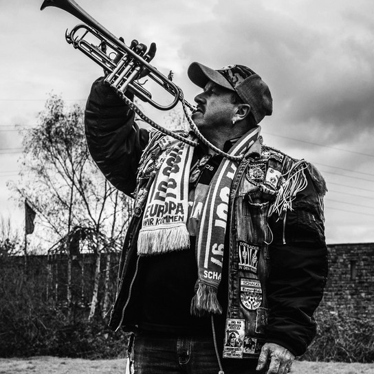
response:
M0 358L0 374L125 374L125 360ZM374 364L295 362L293 374L374 374Z

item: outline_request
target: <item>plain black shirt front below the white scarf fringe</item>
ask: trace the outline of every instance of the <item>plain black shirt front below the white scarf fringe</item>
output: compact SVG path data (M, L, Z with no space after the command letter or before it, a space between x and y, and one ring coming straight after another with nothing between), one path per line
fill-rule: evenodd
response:
M194 248L195 238L188 250L141 259L140 328L172 333L188 332L191 327L196 332L208 331L209 318L196 318L190 314L197 281Z

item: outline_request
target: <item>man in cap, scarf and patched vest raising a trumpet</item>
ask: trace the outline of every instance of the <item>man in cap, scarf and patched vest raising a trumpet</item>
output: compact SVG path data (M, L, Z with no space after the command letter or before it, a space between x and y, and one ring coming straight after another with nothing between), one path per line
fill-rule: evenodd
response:
M252 69L192 63L188 77L192 120L227 156L192 131L197 146L140 129L103 78L91 89L89 151L135 199L109 325L133 331L137 374L288 373L327 277L325 181L263 144L272 96Z

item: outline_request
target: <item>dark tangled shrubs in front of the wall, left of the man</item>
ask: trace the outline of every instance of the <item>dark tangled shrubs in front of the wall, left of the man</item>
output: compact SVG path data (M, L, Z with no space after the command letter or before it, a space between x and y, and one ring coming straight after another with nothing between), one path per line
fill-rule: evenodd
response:
M125 334L99 316L88 322L88 307L47 300L45 274L7 259L0 265L0 357L124 357Z

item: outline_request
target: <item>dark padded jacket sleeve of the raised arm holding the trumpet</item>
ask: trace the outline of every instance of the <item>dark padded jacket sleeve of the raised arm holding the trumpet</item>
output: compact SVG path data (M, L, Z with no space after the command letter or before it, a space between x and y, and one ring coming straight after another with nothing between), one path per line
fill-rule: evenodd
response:
M87 145L104 176L126 195L135 190L137 166L148 142L148 131L139 129L134 117L103 78L94 82L85 109Z

